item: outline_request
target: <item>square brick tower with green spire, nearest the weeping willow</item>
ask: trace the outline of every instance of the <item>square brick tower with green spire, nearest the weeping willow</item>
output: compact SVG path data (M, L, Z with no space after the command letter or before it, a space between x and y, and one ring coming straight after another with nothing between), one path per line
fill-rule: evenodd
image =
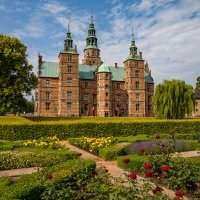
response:
M128 115L145 116L145 79L142 52L137 52L134 34L130 46L130 54L124 61L125 87L128 93Z

